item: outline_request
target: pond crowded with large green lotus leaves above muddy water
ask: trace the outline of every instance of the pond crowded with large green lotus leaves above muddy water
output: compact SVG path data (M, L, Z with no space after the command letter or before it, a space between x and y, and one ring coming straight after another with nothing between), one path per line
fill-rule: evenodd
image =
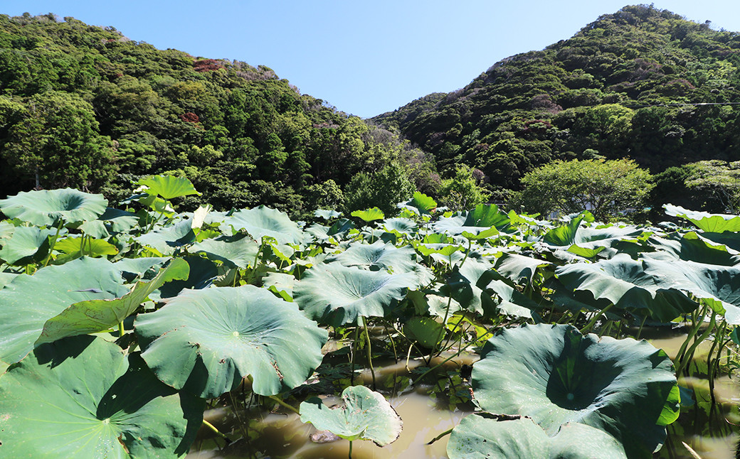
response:
M305 224L139 184L0 200L0 456L733 457L740 217Z

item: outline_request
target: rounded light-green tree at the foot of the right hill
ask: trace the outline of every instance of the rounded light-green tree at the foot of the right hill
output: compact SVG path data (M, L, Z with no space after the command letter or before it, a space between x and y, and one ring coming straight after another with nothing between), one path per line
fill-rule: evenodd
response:
M540 214L588 209L597 220L608 220L642 205L651 179L633 160L557 160L525 174L524 189L511 203Z

